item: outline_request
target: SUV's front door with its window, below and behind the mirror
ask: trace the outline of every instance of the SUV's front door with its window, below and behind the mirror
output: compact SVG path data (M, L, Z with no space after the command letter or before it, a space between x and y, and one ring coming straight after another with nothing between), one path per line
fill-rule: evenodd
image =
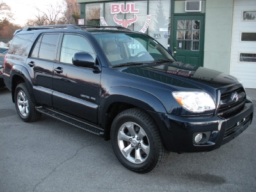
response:
M92 45L83 35L63 33L58 52L60 63L55 63L53 68L54 108L96 123L100 73L72 64L72 56L76 52L88 52L95 60Z

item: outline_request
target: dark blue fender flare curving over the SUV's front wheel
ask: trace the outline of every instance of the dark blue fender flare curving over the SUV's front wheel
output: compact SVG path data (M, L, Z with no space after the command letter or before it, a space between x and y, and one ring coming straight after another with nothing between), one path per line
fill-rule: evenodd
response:
M145 111L166 113L163 103L151 93L128 86L113 86L104 94L100 102L99 124L105 124L107 111L111 104L116 102L131 104Z

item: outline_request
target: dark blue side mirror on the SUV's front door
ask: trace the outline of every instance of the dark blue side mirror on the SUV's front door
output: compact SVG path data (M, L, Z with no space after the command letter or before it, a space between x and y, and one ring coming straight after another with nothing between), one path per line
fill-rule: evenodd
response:
M72 63L79 67L93 68L95 66L95 61L88 52L76 52L72 58Z

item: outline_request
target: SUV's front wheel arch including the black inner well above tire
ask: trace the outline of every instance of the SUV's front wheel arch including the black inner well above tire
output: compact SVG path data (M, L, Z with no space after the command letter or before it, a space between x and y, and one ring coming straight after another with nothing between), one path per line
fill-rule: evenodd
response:
M151 93L136 88L116 86L109 90L108 97L100 103L99 124L105 129L105 140L110 139L110 129L115 116L125 109L140 108L147 111L166 113L162 102ZM150 115L154 120L154 116Z

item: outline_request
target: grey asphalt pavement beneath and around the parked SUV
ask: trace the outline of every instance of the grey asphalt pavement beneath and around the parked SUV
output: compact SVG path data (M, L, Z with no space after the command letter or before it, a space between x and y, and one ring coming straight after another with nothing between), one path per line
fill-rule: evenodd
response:
M256 90L247 94L256 104ZM138 174L118 162L111 141L46 115L22 122L7 89L0 101L1 192L256 191L256 113L252 125L221 148L172 153L163 166Z

